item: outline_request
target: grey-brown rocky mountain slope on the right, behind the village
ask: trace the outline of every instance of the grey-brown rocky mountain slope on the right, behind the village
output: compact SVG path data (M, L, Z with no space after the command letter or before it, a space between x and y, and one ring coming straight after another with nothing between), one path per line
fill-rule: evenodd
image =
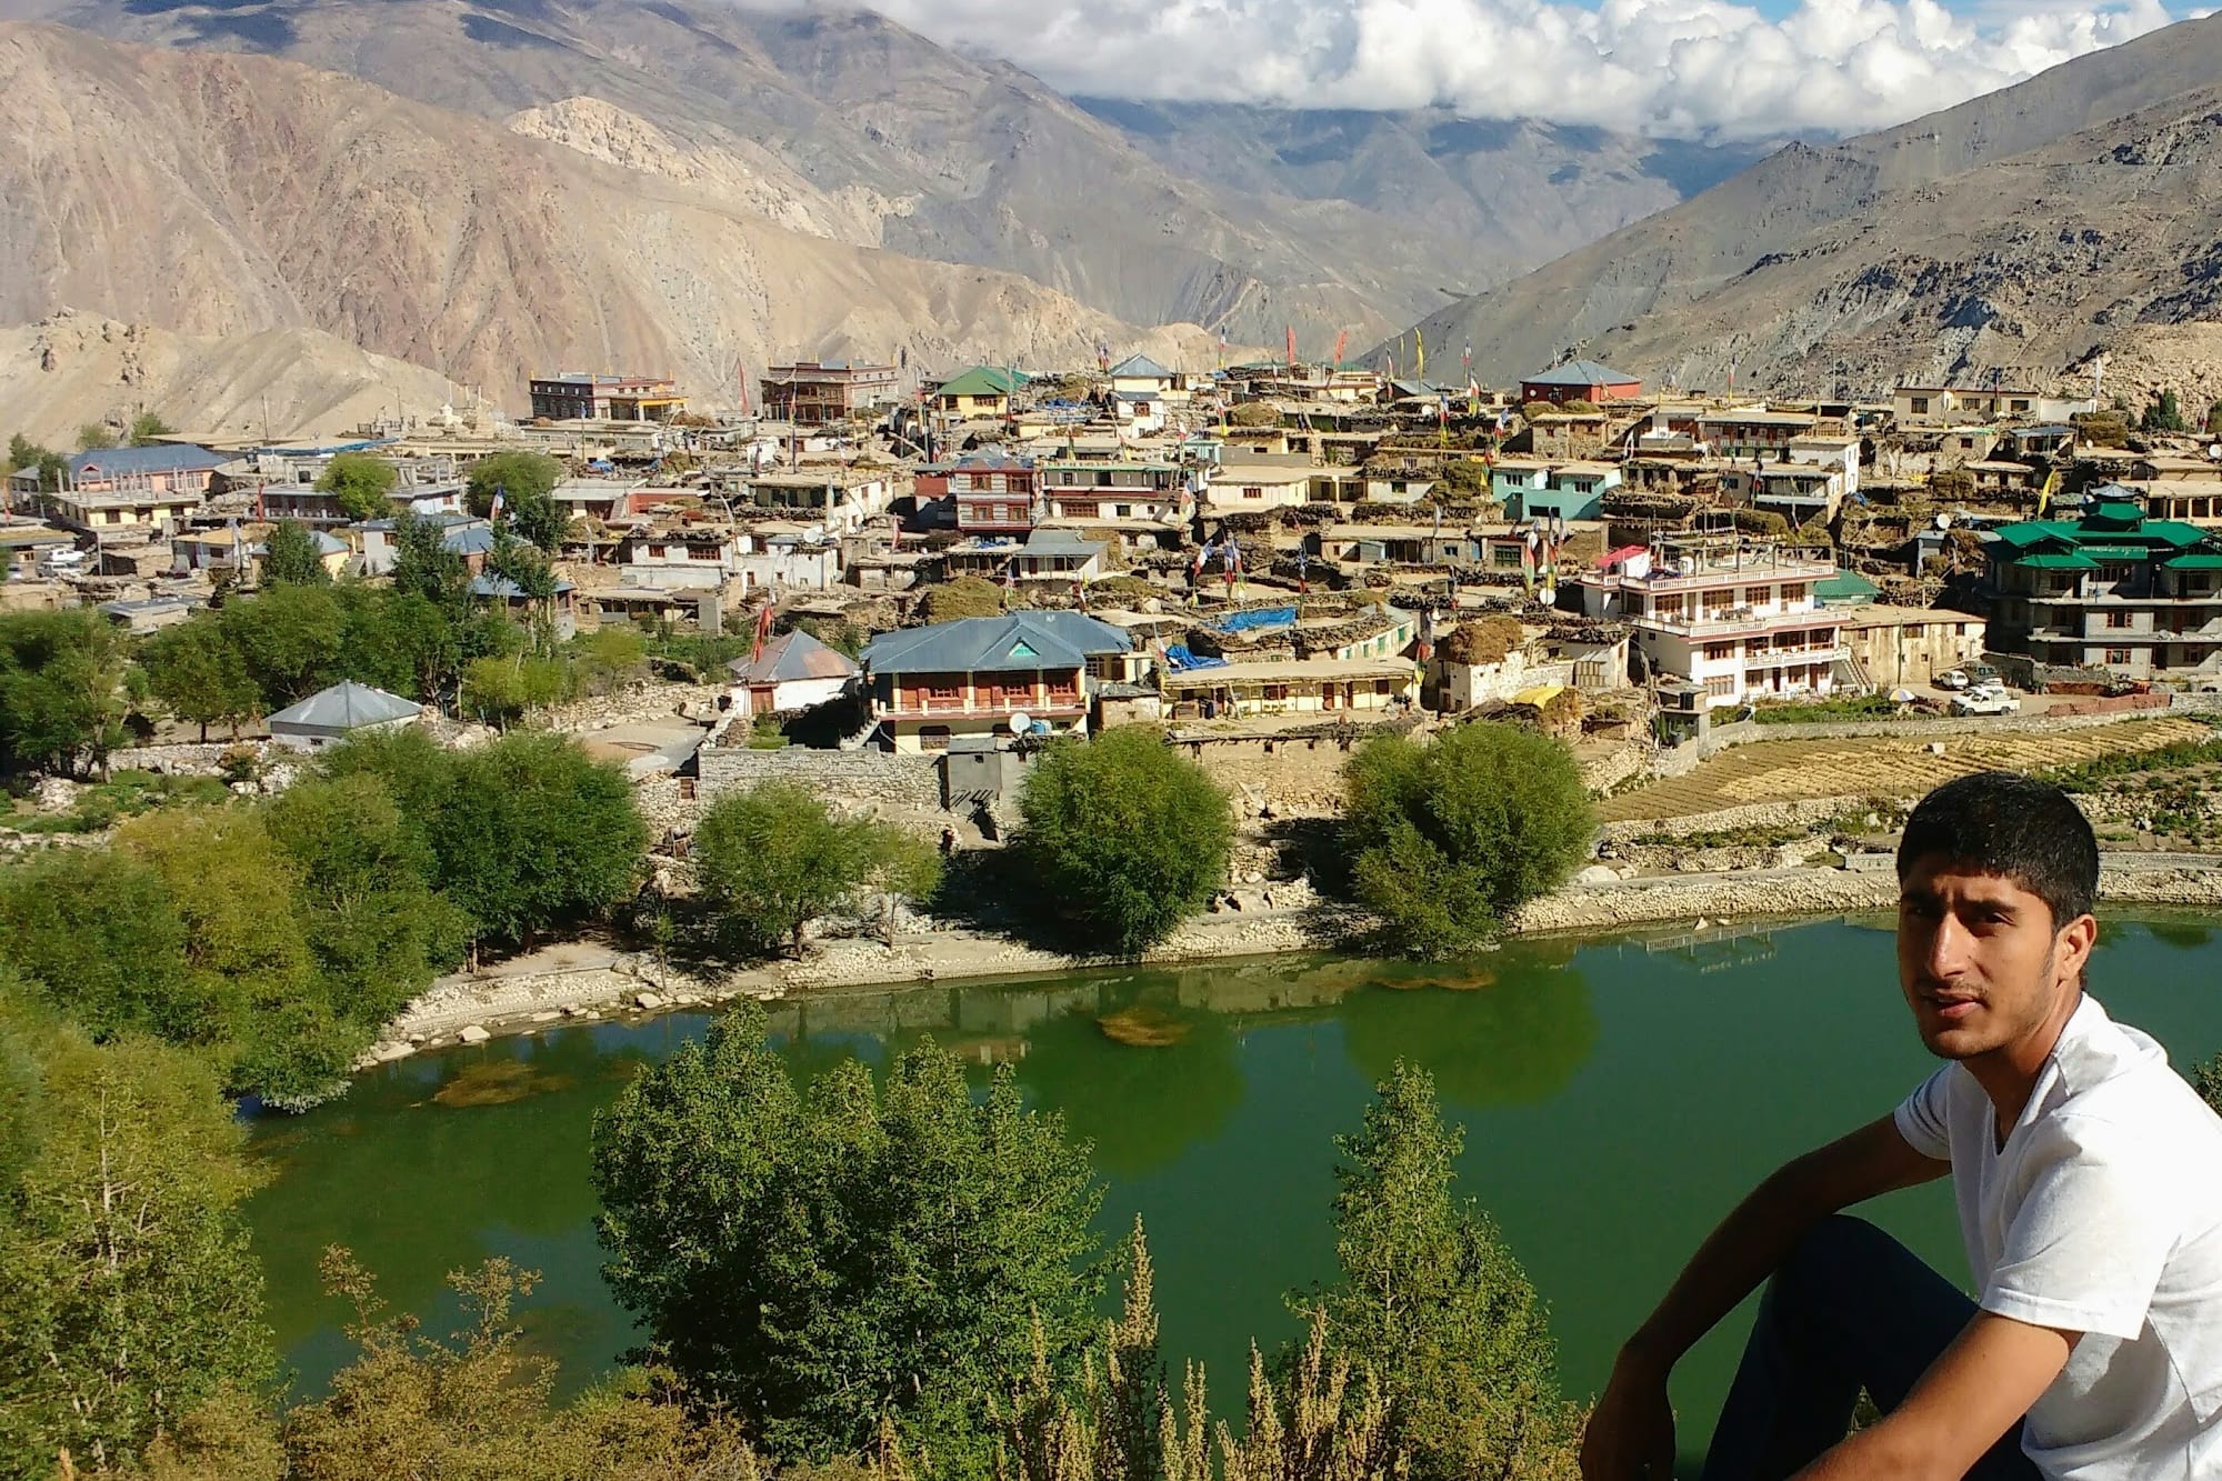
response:
M2184 213L2184 229L2198 229L2215 196L2198 193L2206 182L2189 160L2122 165L2113 151L2135 153L2146 149L2140 138L2193 122L2218 76L2222 18L2189 20L1898 129L1791 145L1429 316L1422 331L1431 345L1471 340L1478 367L1498 380L1578 349L1718 385L1735 354L1758 376L1860 391L1900 369L2078 354L2124 316L2191 318L2166 302L2186 271L2169 256L2180 240L2169 218ZM2124 240L2142 213L2160 236ZM2100 254L2104 287L2040 280L2062 262L2084 271L2075 251L2033 249L2062 231L2118 242ZM2022 296L2026 318L2009 307Z

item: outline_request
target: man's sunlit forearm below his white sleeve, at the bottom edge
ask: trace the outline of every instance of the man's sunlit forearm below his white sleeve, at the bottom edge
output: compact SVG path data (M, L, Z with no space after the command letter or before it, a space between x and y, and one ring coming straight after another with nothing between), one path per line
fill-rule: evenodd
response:
M1902 1405L1795 1481L1958 1481L2060 1376L2078 1336L1975 1312Z

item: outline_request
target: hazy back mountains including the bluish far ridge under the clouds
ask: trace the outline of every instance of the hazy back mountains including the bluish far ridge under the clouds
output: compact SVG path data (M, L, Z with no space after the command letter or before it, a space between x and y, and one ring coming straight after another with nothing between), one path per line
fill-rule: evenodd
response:
M0 0L4 2L4 0ZM613 109L798 231L1015 271L1129 322L1362 345L1749 153L1447 116L1075 105L869 13L718 0L73 0L587 145ZM558 113L551 129L551 113ZM611 156L600 156L611 158ZM624 162L624 160L618 160Z

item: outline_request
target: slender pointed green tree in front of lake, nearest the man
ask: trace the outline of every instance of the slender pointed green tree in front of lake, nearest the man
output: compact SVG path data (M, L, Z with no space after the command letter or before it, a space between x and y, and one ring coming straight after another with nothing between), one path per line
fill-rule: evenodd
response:
M1373 1090L1358 1134L1335 1139L1340 1279L1291 1308L1322 1314L1329 1352L1380 1383L1413 1481L1564 1465L1580 1425L1544 1305L1489 1216L1453 1196L1462 1134L1424 1070L1400 1063Z

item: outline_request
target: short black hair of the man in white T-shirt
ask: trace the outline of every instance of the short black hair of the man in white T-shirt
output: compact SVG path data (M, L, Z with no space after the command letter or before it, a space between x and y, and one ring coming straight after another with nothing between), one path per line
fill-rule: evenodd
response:
M2091 821L2066 792L2020 772L1960 776L1924 796L1898 841L1898 881L1926 858L2011 878L2044 901L2055 930L2098 898Z

